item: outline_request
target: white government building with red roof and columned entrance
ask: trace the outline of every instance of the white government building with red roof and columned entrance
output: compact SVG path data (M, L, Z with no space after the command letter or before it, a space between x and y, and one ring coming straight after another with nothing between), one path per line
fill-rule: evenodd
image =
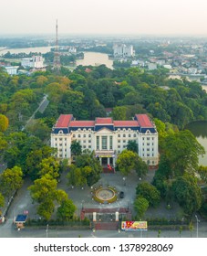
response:
M158 132L147 114L136 114L129 121L113 121L110 117L77 121L72 114L61 114L51 133L51 146L57 148L57 157L66 158L69 163L70 145L78 141L82 150L95 152L101 165L115 166L129 140L138 144L138 153L148 165L158 165Z

